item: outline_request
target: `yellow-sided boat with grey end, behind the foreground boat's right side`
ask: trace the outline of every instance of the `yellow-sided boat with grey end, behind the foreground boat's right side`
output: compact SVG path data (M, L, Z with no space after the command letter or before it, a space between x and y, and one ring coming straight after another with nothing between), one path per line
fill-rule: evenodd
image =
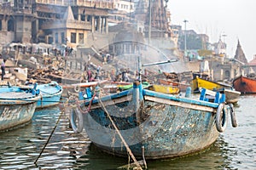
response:
M202 79L200 77L195 77L193 79L193 90L196 93L200 88L207 88L209 90L218 91L226 95L226 102L231 104L236 104L240 98L240 92L236 91L229 84L224 84L221 82L212 82L209 80Z

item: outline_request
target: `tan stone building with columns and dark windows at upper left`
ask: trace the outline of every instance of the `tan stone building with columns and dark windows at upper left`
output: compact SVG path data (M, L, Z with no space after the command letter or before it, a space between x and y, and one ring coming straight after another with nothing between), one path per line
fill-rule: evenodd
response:
M113 9L111 2L88 0L15 0L13 6L2 3L2 45L46 42L76 47L86 42L89 32L108 33L109 9Z

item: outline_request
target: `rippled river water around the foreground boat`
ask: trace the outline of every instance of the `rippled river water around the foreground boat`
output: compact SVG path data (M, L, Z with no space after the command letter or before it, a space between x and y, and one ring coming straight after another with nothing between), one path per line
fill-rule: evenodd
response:
M147 161L148 169L256 169L256 95L241 96L238 104L238 127L231 127L229 121L208 150ZM90 144L86 134L73 133L60 108L36 111L28 125L0 133L0 169L116 169L127 164L128 158L104 154Z

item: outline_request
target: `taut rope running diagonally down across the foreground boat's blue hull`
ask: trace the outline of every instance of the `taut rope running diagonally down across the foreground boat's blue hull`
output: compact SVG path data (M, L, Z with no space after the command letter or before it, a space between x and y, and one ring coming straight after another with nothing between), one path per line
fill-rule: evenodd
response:
M140 164L138 163L138 161L137 161L137 159L135 158L135 156L133 155L131 149L129 148L129 145L125 142L125 139L123 138L122 134L119 132L118 127L117 127L117 126L115 125L115 123L113 122L113 119L112 119L111 116L109 115L109 113L108 113L106 107L103 105L102 100L101 100L100 98L99 98L99 103L100 103L100 105L102 105L103 110L107 113L107 116L108 116L110 122L112 123L114 129L115 129L115 130L117 131L117 133L119 134L119 138L120 138L120 139L122 140L122 142L125 144L125 148L126 148L127 152L129 153L129 155L131 156L132 160L135 162L137 168L143 169L143 168L140 166Z

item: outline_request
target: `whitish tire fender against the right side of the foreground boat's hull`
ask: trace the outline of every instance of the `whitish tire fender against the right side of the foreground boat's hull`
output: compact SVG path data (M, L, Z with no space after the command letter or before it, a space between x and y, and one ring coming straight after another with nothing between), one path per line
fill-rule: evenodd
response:
M227 108L224 103L218 105L217 114L216 114L216 127L218 132L223 133L227 127L228 116Z

